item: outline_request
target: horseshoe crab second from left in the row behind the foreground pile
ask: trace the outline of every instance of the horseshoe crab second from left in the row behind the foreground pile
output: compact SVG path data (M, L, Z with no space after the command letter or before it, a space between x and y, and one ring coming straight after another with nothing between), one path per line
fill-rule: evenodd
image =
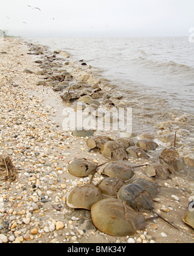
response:
M125 148L123 148L116 141L108 141L107 143L105 143L101 148L101 152L103 156L112 160L128 159L128 155L125 151Z

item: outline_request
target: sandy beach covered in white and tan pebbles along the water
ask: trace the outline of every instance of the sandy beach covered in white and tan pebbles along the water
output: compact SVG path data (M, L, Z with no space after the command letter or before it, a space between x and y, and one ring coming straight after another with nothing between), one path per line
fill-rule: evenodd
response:
M38 56L32 54L34 52L39 52ZM0 242L193 243L193 228L182 221L193 194L193 181L189 177L173 173L170 179L155 180L160 186L154 202L155 212L178 229L155 218L131 237L113 237L96 229L90 211L67 207L68 192L91 179L91 175L72 176L67 170L70 161L76 157L99 164L109 161L100 152L90 150L87 137L75 137L63 130L62 110L69 103L61 99L61 91L54 91L44 82L43 76L49 75L52 69L66 70L70 73L67 82L84 82L75 71L70 72L72 67L68 61L68 54L64 52L60 56L58 52L49 52L47 47L30 45L19 38L7 38L3 42L0 53L0 155L12 159L16 177L13 181L4 180L0 174ZM40 67L46 62L50 70ZM89 67L84 69L85 81L87 70ZM104 83L103 94L111 93L110 89ZM115 104L118 102L119 99L115 99ZM116 132L104 130L94 134L118 139ZM152 163L162 150L161 143L159 150L151 153L151 159L129 157L128 161L134 166ZM193 168L192 159L184 164ZM102 169L100 167L95 174L94 185L105 178ZM136 169L135 178L154 180L146 175L144 167ZM148 215L145 213L145 216Z

